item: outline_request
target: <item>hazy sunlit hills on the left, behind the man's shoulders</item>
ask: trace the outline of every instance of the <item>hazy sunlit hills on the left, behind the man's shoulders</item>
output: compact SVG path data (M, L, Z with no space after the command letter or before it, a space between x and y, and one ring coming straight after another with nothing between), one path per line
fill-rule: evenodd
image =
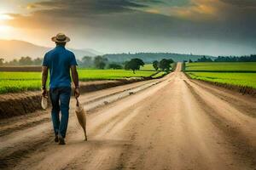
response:
M46 48L32 44L30 42L24 42L19 40L0 40L0 58L5 60L12 60L20 58L21 56L29 56L32 59L43 58L44 54L51 48ZM84 55L86 56L96 56L93 53L95 50L85 50L85 49L73 49L69 48L76 54L78 59L81 59ZM96 52L96 51L95 51ZM97 52L98 53L98 52Z

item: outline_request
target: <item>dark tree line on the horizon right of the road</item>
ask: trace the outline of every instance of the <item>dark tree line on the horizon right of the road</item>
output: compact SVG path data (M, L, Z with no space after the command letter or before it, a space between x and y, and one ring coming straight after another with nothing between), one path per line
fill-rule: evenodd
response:
M189 59L189 63L193 61ZM256 62L256 54L250 56L218 56L216 59L207 58L203 56L201 59L197 59L195 62Z

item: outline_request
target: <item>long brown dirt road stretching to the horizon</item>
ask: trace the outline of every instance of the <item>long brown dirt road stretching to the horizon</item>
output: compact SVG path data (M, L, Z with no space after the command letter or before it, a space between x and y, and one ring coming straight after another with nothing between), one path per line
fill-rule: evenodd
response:
M54 143L47 111L0 122L0 168L255 170L256 99L191 81L180 70L178 64L142 91L91 110L88 142L73 108L65 146ZM81 100L88 109L121 88Z

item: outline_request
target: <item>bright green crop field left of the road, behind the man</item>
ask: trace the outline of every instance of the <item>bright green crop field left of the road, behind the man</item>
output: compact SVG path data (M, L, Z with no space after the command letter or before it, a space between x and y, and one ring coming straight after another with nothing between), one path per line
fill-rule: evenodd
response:
M125 70L79 70L80 81L92 80L119 80L129 77L150 77L156 71L132 71ZM157 74L158 75L158 74ZM155 76L154 76L155 77ZM0 71L0 94L14 93L41 88L40 72L8 72Z

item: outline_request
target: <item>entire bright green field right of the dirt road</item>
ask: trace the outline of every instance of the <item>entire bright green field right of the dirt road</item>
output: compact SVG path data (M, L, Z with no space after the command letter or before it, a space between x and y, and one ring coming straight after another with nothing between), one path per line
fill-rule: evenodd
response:
M198 80L256 88L256 63L189 63L186 72Z

